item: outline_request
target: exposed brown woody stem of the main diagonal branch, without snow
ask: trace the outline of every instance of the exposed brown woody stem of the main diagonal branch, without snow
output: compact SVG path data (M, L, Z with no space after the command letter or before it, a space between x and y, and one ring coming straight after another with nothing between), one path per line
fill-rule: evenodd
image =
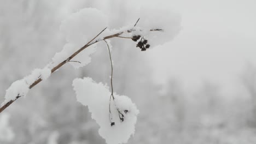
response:
M136 26L136 25L135 25ZM106 27L107 28L107 27ZM104 28L98 35L100 35L106 28ZM127 31L123 31L123 32L119 32L119 33L115 33L115 34L112 34L112 35L108 35L107 37L104 37L103 39L98 39L98 40L95 40L98 35L96 35L96 37L94 37L92 40L90 40L86 45L84 45L83 47L81 47L78 51L74 52L71 56L69 56L65 61L59 63L58 65L56 65L56 67L54 67L53 69L51 69L51 73L54 73L54 71L56 71L57 69L59 69L60 67L62 67L62 65L66 64L67 62L69 62L72 58L74 58L75 56L78 55L78 53L80 53L81 51L83 51L84 49L86 49L87 47L89 47L90 45L92 44L95 44L95 43L98 43L99 41L102 41L102 40L106 40L106 39L111 39L111 38L114 38L114 37L119 37L119 35L127 32L127 33L131 33L132 31L135 31L133 28L127 30ZM150 29L149 31L162 31L162 29ZM34 83L29 87L30 89L33 88L34 86L36 86L39 82L41 82L42 79L38 79L36 81L34 81ZM9 105L11 105L15 100L19 99L21 96L20 95L17 95L16 99L14 100L10 100L8 101L8 103L6 103L5 105L3 105L1 108L0 108L0 113L5 110Z

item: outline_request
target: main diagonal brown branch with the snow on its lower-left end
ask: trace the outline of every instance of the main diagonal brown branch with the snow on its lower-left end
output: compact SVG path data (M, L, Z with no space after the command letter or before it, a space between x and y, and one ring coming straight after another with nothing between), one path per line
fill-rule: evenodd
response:
M78 53L82 52L84 49L87 47L96 44L102 40L106 39L111 39L111 38L120 38L119 36L122 34L127 34L127 33L134 33L134 34L142 34L143 32L153 32L153 31L163 31L162 29L143 29L143 28L138 28L138 27L132 27L125 29L124 31L120 31L114 34L107 35L105 37L98 38L98 36L105 31L106 28L104 28L100 33L96 35L93 39L91 39L87 44L85 44L83 47L81 47L79 50L75 51L72 53L71 56L67 57L64 61L61 63L57 64L55 67L53 67L50 72L47 68L47 65L44 69L42 70L34 70L31 75L28 75L24 77L24 79L15 81L10 87L9 90L7 89L8 99L5 95L5 101L2 104L2 107L0 108L0 113L5 110L9 105L11 105L14 101L19 99L22 96L26 96L28 89L33 88L36 86L39 82L43 81L45 78L43 76L50 76L50 73L54 73L57 69L61 68L64 64L68 63L73 59L75 56L78 55ZM97 38L97 39L96 39ZM46 70L45 70L46 69ZM45 74L46 73L46 74ZM34 80L31 82L31 80ZM22 88L23 87L23 88Z

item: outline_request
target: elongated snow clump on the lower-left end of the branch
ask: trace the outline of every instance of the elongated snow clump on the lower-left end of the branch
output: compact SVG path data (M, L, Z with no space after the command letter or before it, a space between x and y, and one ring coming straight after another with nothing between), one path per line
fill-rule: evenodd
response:
M48 67L34 69L30 75L11 83L10 87L6 90L2 105L8 103L10 100L15 100L18 96L25 97L34 81L38 79L46 80L50 75L51 70Z

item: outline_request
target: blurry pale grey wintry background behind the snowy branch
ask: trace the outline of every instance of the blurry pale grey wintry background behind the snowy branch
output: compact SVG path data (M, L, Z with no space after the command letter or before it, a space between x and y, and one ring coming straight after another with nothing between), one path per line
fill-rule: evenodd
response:
M59 26L75 11L120 13L117 28L134 23L127 5L173 9L182 17L174 39L141 52L113 40L114 89L140 110L129 143L256 143L256 2L0 0L0 101L5 89L43 68L66 43ZM150 16L150 15L149 15ZM163 15L164 16L164 15ZM141 17L142 18L142 17ZM72 81L109 83L106 47L75 70L65 65L0 114L0 143L104 143Z

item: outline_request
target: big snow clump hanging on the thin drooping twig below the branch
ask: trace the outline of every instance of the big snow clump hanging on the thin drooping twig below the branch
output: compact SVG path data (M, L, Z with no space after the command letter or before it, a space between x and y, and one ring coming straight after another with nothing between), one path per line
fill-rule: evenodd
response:
M135 133L138 110L129 97L114 94L114 101L111 99L109 115L109 88L103 83L96 83L90 77L74 79L74 91L77 100L88 106L91 117L100 125L99 134L107 143L125 143ZM118 110L123 113L124 121L121 122ZM112 117L110 125L109 116Z

